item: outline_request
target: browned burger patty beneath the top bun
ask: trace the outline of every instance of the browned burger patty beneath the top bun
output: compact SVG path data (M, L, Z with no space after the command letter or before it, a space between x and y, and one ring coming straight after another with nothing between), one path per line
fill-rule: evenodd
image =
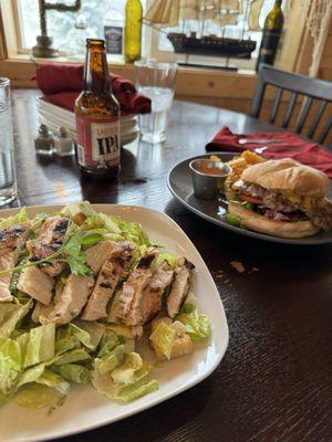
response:
M250 193L261 200L261 206L271 209L273 212L291 213L303 211L311 222L320 229L332 229L332 201L326 198L315 201L310 210L303 210L301 203L291 202L276 190L267 190L258 185L249 185L242 189L243 193Z

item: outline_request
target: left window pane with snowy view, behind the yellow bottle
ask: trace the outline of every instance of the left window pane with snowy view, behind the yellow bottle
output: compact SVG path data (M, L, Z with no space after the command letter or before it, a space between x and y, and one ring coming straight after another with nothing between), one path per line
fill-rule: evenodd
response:
M40 34L38 0L17 0L21 24L22 46L31 49L35 44L35 38ZM145 0L141 0L143 8ZM55 1L52 1L56 3ZM59 1L60 2L60 1ZM62 0L62 3L73 4L73 0ZM46 12L48 34L53 39L53 46L66 53L75 41L82 36L104 38L104 27L117 21L124 25L124 9L126 0L82 0L79 12ZM85 29L77 30L80 23Z

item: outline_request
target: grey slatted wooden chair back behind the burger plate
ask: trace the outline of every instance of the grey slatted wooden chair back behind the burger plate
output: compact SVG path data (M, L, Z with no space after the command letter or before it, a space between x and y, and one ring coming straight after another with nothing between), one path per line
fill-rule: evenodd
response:
M312 118L309 129L305 134L303 134L308 138L312 138L318 129L318 125L324 114L328 104L332 103L332 83L323 80L310 78L305 75L292 74L290 72L284 72L267 64L262 64L258 73L256 91L249 113L249 115L251 115L252 117L259 117L266 87L268 85L277 87L272 109L269 116L269 123L272 124L274 124L278 116L282 93L284 91L289 91L291 93L290 102L287 106L286 113L281 122L281 126L284 128L287 128L290 124L298 97L300 95L305 97L295 124L297 134L300 134L302 131L313 102L319 101L318 109ZM323 143L325 140L331 128L332 115L329 115L328 122L325 123L320 135L318 136L318 143Z

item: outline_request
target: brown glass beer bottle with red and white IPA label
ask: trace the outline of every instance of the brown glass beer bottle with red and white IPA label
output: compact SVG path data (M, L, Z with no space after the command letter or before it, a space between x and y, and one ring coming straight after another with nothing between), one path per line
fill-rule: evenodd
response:
M75 103L77 161L85 177L120 172L120 106L112 94L104 40L86 40L83 91Z

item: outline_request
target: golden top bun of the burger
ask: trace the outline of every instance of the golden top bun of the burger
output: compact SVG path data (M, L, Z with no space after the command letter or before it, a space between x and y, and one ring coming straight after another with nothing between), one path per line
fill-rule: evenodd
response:
M303 166L291 158L269 159L247 167L241 179L269 190L290 191L301 196L325 197L329 178L313 167Z

